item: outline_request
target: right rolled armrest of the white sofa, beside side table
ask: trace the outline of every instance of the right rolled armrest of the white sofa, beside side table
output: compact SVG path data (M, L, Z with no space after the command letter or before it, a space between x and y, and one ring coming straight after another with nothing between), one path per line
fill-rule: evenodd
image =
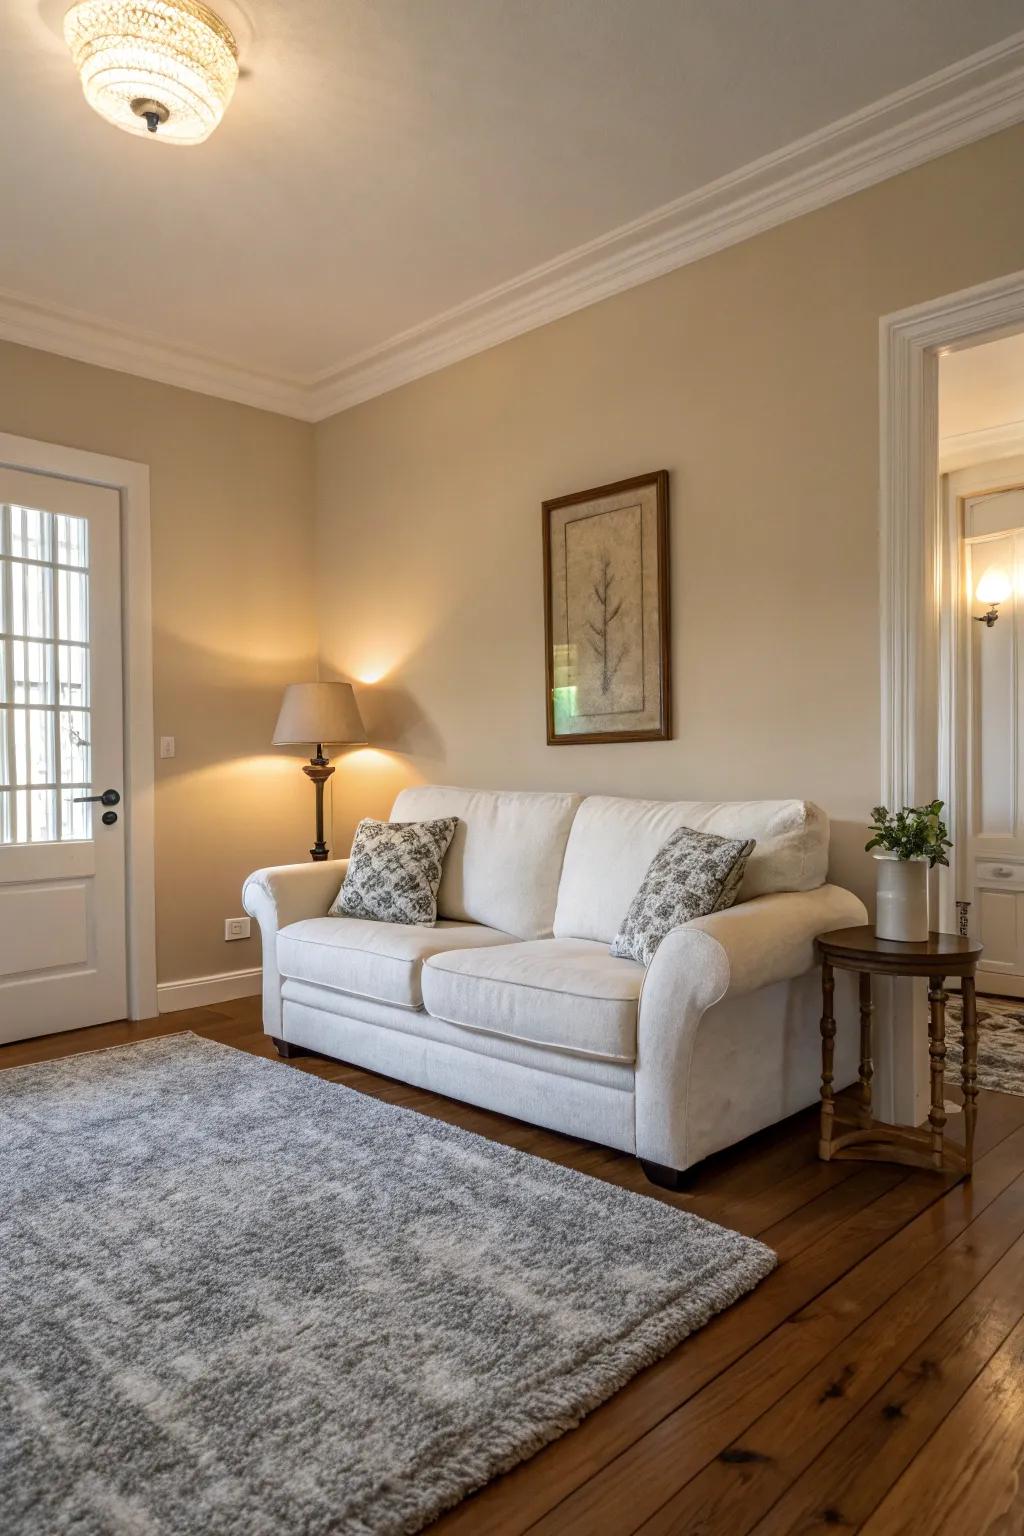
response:
M867 922L863 902L838 885L758 895L674 928L657 948L637 1020L637 1155L686 1167L689 1064L703 1015L814 966L814 940ZM751 1054L751 1071L757 1058Z

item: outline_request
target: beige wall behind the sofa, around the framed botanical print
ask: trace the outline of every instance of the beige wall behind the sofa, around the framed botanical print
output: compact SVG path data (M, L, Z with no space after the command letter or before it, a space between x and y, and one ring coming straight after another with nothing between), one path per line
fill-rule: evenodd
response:
M861 891L878 796L878 318L1024 266L1024 129L316 430L321 654L415 779L809 796ZM676 740L547 746L540 502L666 467Z

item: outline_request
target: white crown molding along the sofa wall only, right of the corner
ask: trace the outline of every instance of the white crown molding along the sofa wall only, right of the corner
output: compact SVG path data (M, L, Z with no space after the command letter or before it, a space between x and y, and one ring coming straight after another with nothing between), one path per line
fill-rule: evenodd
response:
M313 419L649 283L1024 118L1024 32L666 203L338 369Z

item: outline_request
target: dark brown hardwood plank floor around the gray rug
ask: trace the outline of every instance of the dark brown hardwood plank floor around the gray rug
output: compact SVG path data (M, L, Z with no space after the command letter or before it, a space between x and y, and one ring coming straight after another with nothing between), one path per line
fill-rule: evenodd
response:
M155 1034L273 1055L256 998L0 1046L0 1068ZM1024 1098L981 1094L970 1184L823 1164L804 1114L683 1195L633 1158L319 1057L282 1063L760 1236L780 1266L441 1536L1021 1536ZM950 1098L955 1091L950 1089Z

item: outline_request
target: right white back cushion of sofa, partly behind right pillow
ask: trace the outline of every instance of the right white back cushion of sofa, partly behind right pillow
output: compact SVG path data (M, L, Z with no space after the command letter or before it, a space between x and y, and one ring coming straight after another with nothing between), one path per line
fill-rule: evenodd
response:
M651 860L680 826L755 839L740 902L771 891L812 891L827 876L829 819L809 800L625 800L594 794L579 808L565 849L556 938L611 943Z

